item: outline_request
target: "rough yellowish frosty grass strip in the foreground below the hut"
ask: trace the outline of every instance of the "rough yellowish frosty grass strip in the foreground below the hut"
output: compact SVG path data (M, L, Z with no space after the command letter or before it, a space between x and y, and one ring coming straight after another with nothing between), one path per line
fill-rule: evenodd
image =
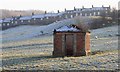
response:
M4 69L12 70L115 70L118 69L118 54L108 52L83 57L57 57L42 54L3 60Z

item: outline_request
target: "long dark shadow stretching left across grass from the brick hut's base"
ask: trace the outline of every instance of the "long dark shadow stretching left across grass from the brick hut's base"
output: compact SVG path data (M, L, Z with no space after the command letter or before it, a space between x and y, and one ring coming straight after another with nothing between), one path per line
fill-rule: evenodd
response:
M52 55L49 55L49 56L34 56L34 57L6 59L6 60L2 60L2 67L31 63L32 61L45 60L49 58L57 58L57 57L53 57Z

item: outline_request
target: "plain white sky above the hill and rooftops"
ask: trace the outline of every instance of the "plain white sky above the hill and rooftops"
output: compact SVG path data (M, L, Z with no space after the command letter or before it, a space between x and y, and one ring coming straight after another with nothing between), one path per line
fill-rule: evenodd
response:
M119 0L0 0L0 9L29 10L39 9L44 11L64 11L64 9L109 6L118 9Z

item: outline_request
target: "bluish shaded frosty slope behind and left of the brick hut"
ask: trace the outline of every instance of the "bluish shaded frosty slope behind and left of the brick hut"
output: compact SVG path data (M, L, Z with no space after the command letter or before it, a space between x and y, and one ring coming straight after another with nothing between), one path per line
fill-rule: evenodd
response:
M73 20L68 19L68 20L54 22L52 24L44 25L44 26L23 25L12 29L0 31L0 35L2 36L2 38L0 39L4 43L4 42L20 41L25 39L36 38L46 34L51 35L54 29L74 23L75 22Z

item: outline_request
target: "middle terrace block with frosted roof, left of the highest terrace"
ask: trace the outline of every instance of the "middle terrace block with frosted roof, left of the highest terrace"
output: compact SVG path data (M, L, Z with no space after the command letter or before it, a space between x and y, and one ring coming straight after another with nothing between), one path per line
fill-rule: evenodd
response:
M63 19L64 13L46 13L32 16L32 23L38 25L47 25Z

